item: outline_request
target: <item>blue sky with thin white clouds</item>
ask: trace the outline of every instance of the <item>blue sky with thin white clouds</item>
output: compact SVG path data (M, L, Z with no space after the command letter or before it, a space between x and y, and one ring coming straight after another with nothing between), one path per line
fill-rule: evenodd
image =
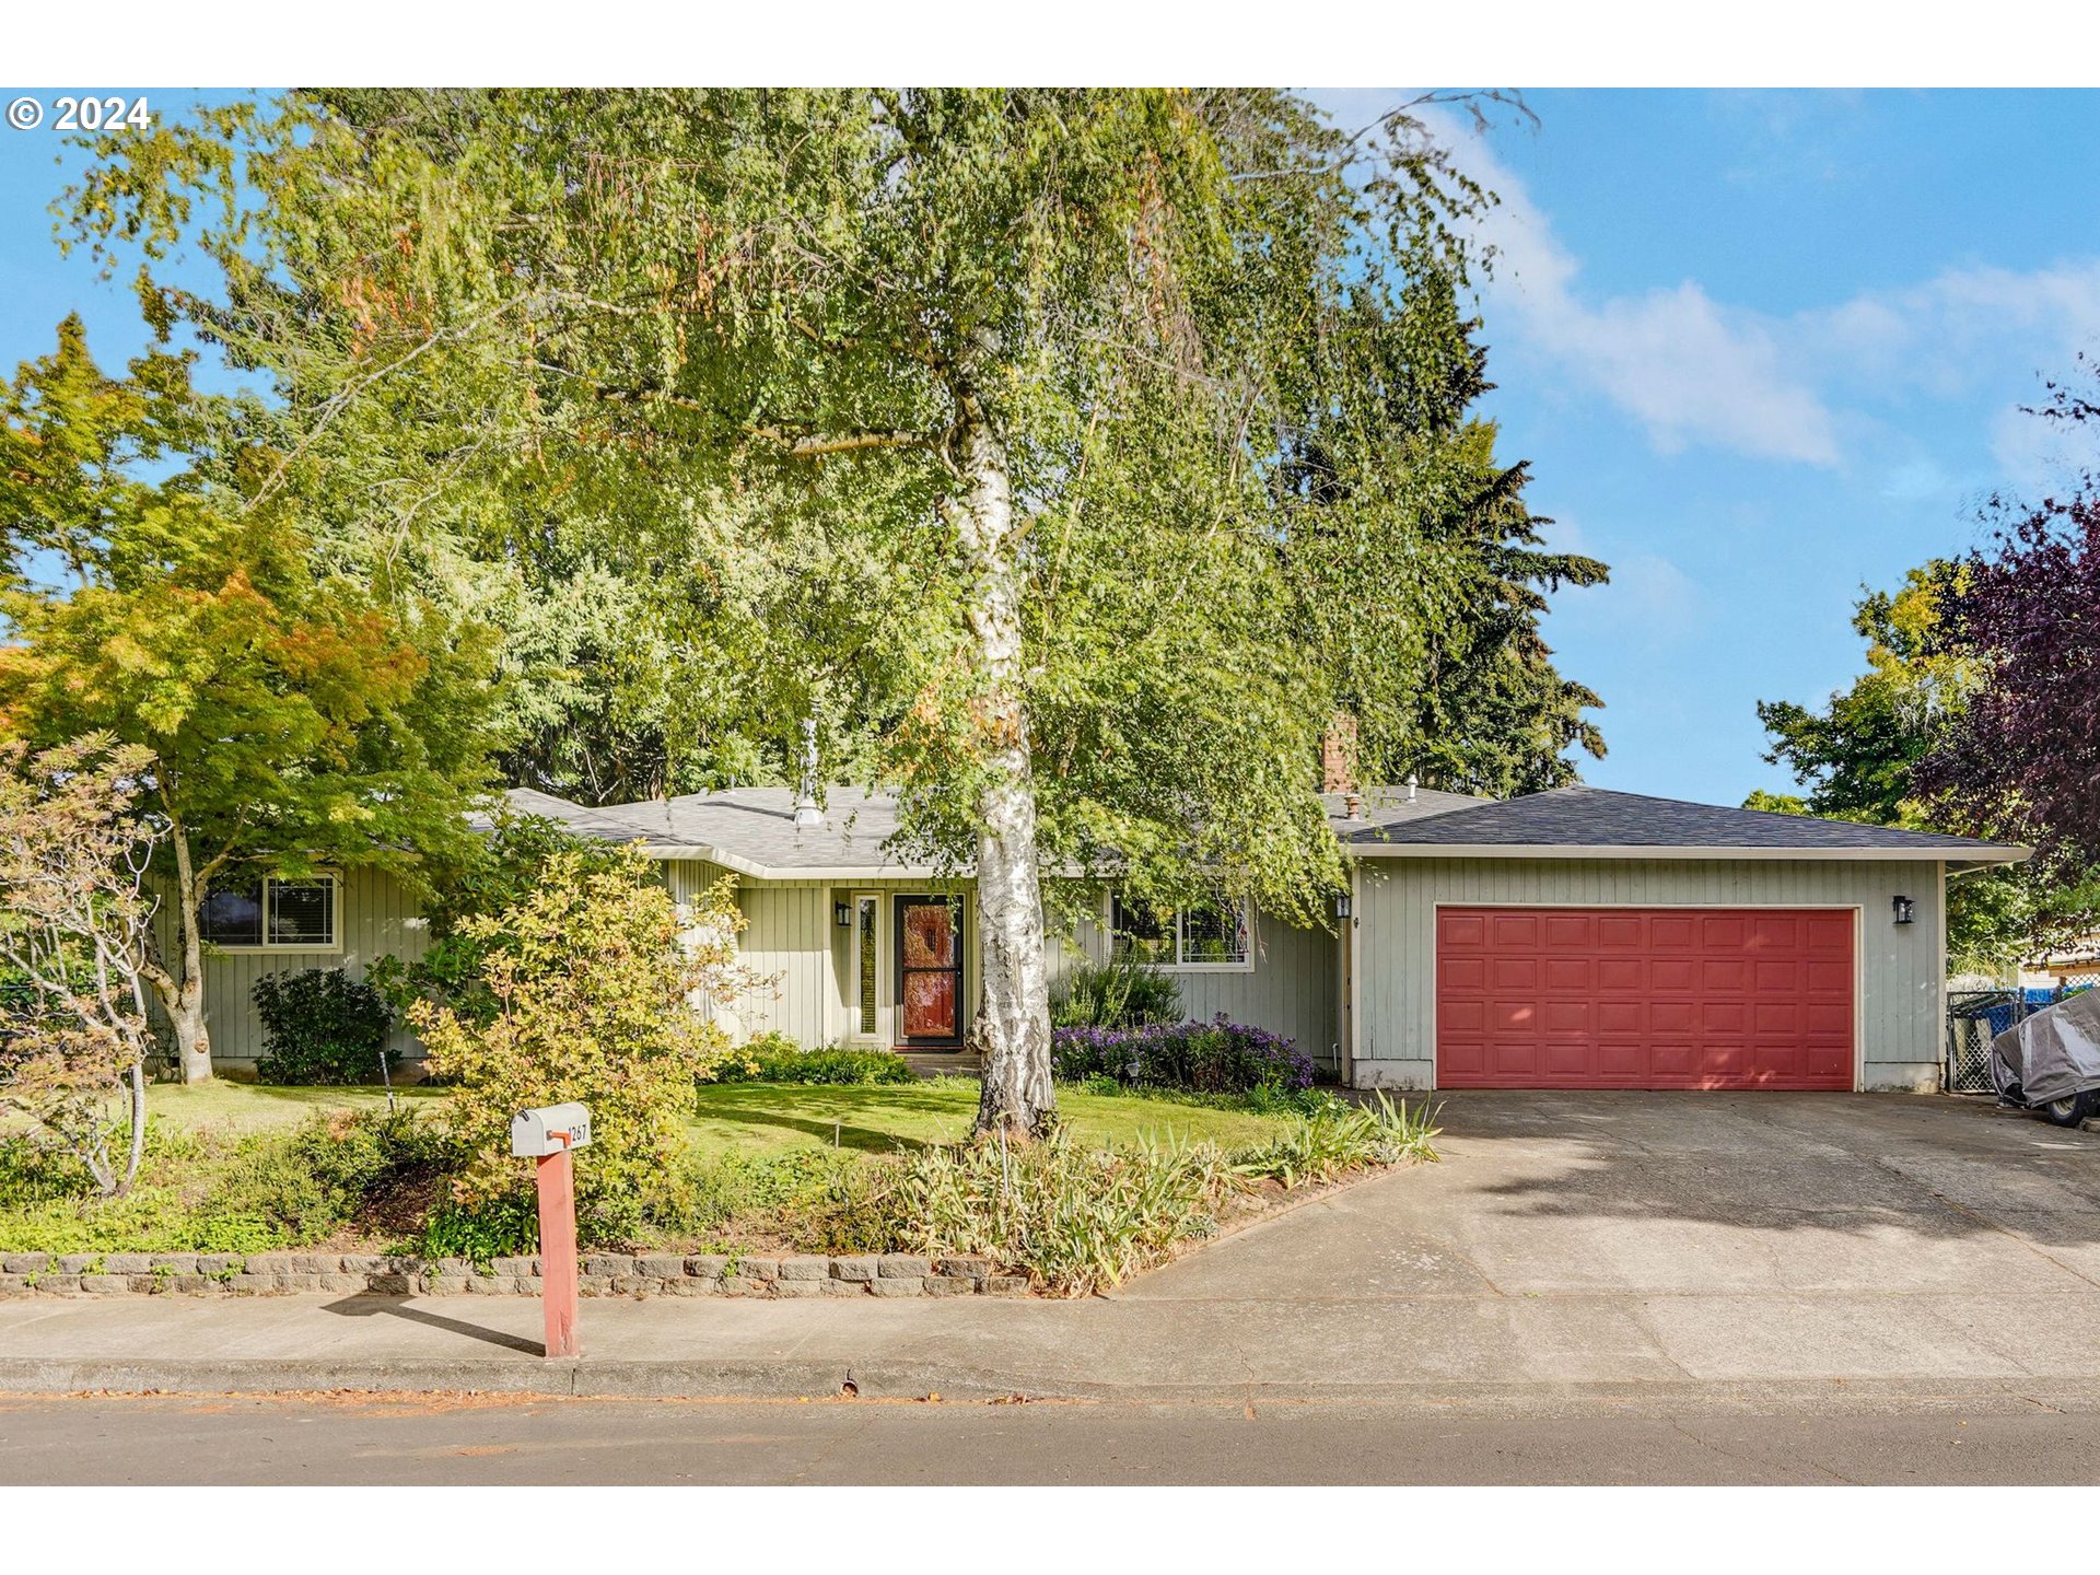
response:
M1361 124L1411 94L1319 97ZM1504 456L1533 462L1556 540L1615 569L1548 620L1606 699L1611 756L1583 775L1785 788L1754 704L1844 685L1863 584L1972 546L1991 489L2060 475L2018 405L2100 349L2100 94L1527 101L1537 128L1436 126L1502 195L1483 311ZM50 244L55 153L0 130L0 365L46 353L65 311L116 365L145 334L122 281Z

